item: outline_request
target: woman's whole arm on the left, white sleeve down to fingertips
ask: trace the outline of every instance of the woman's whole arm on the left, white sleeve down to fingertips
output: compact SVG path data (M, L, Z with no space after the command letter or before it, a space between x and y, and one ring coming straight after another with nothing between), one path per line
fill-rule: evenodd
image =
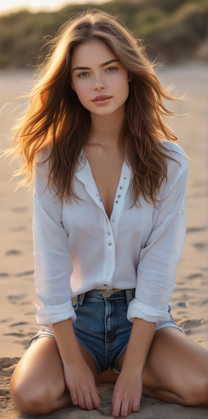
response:
M48 153L41 151L34 168L33 244L36 292L42 307L37 323L52 325L64 367L64 378L72 403L92 410L100 406L95 379L80 352L72 322L76 314L71 302L70 277L73 266L68 234L62 224L62 202L47 187Z

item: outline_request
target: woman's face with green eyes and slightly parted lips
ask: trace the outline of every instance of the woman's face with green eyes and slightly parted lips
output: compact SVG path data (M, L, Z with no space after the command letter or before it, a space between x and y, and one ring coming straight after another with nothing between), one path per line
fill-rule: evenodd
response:
M128 70L102 41L85 42L74 50L71 86L90 113L109 115L128 98Z

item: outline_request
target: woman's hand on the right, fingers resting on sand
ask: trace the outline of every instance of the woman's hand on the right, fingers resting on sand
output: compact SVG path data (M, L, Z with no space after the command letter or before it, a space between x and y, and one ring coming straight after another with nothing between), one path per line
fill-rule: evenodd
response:
M142 393L142 372L134 367L122 369L114 390L111 401L112 416L118 418L139 411Z

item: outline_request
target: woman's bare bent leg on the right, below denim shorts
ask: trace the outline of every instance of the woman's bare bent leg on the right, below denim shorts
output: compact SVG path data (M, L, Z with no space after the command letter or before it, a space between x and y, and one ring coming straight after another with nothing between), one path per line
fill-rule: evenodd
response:
M121 371L126 351L118 360ZM143 373L143 394L187 406L208 405L208 352L178 329L155 332Z

